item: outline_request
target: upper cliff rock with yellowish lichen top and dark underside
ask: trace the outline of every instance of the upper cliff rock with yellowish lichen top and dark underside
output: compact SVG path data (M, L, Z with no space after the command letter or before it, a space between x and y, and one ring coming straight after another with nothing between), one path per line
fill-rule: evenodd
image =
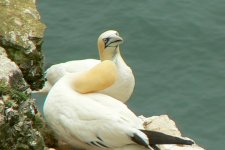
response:
M45 25L40 22L35 0L0 0L0 46L23 72L31 89L43 85Z

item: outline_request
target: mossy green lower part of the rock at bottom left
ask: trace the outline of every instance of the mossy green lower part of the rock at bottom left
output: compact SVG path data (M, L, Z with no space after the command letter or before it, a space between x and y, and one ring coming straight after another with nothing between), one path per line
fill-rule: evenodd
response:
M0 149L44 149L42 135L34 128L37 108L29 94L0 81Z

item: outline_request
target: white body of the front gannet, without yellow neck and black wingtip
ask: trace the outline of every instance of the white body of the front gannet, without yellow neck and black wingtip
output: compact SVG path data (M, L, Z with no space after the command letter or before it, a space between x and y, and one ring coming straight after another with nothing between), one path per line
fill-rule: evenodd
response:
M138 117L110 96L74 91L73 79L72 74L61 78L45 101L44 116L55 133L74 147L85 149L95 148L88 145L91 142L112 148L134 144L128 135L142 134L138 130L143 128Z

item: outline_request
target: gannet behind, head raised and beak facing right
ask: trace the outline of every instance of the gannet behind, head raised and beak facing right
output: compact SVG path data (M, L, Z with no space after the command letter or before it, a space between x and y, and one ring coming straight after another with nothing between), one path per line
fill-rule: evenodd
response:
M117 31L109 30L102 33L97 40L100 60L75 60L53 65L46 71L46 82L44 87L33 93L47 94L56 81L65 74L89 70L101 61L111 60L117 67L117 80L110 87L100 92L125 103L133 92L135 79L131 68L121 57L119 45L122 42L123 39L119 36ZM88 93L88 91L86 91L86 93Z

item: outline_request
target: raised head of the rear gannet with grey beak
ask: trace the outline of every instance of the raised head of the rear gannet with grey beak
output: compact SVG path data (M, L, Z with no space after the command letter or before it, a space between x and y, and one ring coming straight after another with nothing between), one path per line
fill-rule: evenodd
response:
M123 42L119 33L114 30L108 30L102 33L98 38L98 49L100 59L112 60L119 53L119 45Z

